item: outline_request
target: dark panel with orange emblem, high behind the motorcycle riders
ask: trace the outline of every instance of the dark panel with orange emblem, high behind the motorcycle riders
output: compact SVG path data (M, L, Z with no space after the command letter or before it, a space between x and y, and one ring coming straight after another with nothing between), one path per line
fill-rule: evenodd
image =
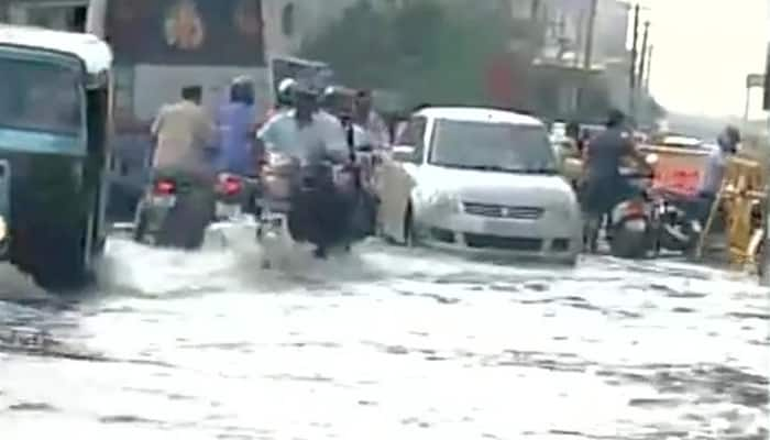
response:
M119 64L264 66L261 0L111 0Z

